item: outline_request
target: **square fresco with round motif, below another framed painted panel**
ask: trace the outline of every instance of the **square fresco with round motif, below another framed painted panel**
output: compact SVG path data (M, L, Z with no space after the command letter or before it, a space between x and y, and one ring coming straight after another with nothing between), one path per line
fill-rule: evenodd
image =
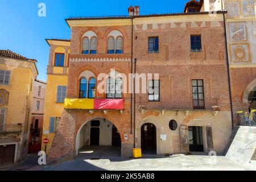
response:
M234 62L250 62L250 45L248 43L231 44L232 61Z

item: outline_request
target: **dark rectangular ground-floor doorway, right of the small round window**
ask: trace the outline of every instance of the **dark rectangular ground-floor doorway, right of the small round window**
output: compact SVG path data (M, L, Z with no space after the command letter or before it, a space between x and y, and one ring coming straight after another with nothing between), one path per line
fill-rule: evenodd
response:
M200 126L189 126L189 151L191 152L203 152L203 129Z

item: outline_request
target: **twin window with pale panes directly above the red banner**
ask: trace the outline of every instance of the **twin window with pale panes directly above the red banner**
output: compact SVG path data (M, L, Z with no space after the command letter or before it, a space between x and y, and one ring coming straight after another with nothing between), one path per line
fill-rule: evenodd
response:
M123 90L122 87L123 87L122 78L117 78L114 82L114 79L112 77L109 77L107 98L122 98L122 90Z

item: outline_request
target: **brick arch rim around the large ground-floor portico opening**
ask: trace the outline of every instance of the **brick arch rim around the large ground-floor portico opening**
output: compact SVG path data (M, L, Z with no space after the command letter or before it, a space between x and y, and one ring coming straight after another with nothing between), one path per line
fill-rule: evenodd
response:
M81 132L81 129L86 125L86 123L92 121L93 119L97 119L97 118L103 118L103 119L106 119L108 120L109 122L111 122L115 127L117 127L117 130L120 134L120 138L121 138L121 143L124 142L124 135L123 135L123 132L121 130L121 126L118 124L118 121L115 121L115 119L113 118L110 118L108 117L107 115L105 115L104 117L92 117L90 118L89 120L86 119L86 120L82 120L82 121L77 121L76 122L76 129L75 129L75 150L76 150L76 155L78 154L78 151L79 151L79 137L80 137L80 132Z

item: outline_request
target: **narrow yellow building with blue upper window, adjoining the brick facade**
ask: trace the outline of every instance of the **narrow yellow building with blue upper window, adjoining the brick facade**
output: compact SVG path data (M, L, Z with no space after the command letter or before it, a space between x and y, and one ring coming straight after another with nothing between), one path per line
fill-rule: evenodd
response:
M46 41L50 46L50 51L42 140L47 138L49 142L47 144L42 142L42 150L46 150L49 154L58 121L64 110L63 102L68 85L70 40L47 39Z

